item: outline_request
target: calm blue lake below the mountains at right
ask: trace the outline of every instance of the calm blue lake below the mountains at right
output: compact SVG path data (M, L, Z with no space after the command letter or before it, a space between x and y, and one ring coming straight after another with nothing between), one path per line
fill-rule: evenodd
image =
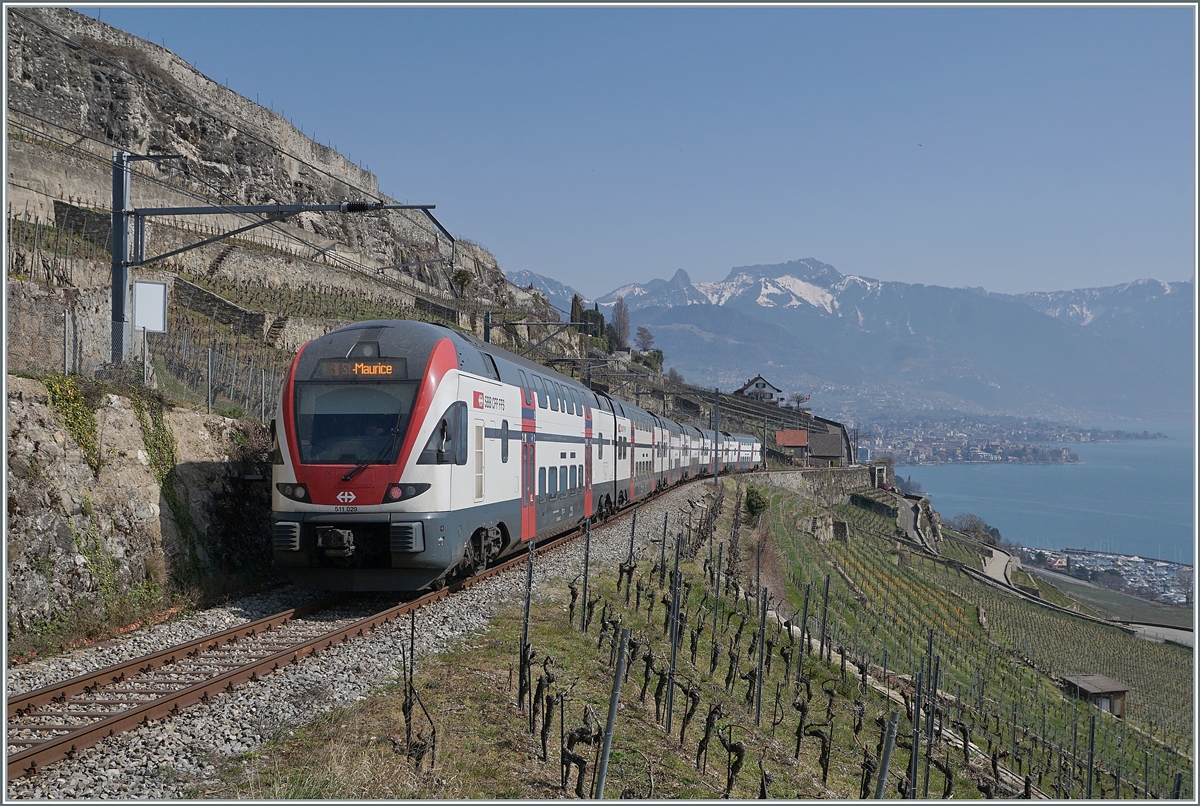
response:
M1171 439L1063 445L1081 464L917 465L898 467L896 475L919 481L943 518L973 512L1022 546L1190 564L1194 432L1147 429Z

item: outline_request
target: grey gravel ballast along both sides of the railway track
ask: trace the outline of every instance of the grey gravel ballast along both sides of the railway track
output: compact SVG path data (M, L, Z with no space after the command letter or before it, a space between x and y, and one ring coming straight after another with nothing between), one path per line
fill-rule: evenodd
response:
M712 488L694 483L676 488L638 510L636 542L644 553L662 534L664 512L689 511ZM684 515L686 518L686 515ZM670 529L678 521L672 517ZM629 551L629 518L592 530L592 567L614 570ZM550 581L570 579L583 570L583 541L539 555L534 591ZM485 632L499 607L524 595L524 566L497 575L454 596L424 607L416 618L416 654L438 654L461 639ZM145 655L245 621L263 618L317 597L287 588L238 600L186 618L138 630L103 646L8 669L10 696ZM365 607L359 602L358 607ZM355 606L348 606L355 607ZM373 608L373 609L382 609ZM323 615L328 618L328 615ZM398 679L401 652L408 646L408 620L400 619L367 637L338 644L316 657L248 682L170 720L158 720L109 738L74 759L52 764L30 777L8 782L8 799L107 798L173 799L204 796L222 757L258 748L281 730L364 699L380 682Z

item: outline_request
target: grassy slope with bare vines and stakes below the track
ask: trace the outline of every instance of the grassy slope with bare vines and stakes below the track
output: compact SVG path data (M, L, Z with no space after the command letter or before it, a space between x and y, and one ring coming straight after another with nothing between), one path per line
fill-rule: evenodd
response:
M727 482L730 494L722 518L718 523L718 536L725 536L726 553L730 535L730 510L732 510L733 485ZM1078 621L1045 622L1034 618L1036 606L1004 596L984 585L973 583L965 575L958 575L944 565L920 559L896 546L893 541L864 537L886 534L888 524L877 522L870 513L851 507L839 507L838 517L847 519L852 528L850 543L818 545L811 537L797 531L796 524L809 511L811 503L791 495L776 494L763 517L761 529L751 531L743 527L740 578L754 584L754 535L767 535L767 547L781 560L778 563L781 582L772 585L778 604L786 618L792 609L803 607L805 590L810 597L810 628L818 628L818 602L824 576L830 579L830 604L828 625L830 636L850 651L857 650L876 667L889 657L889 672L914 672L919 668L929 627L935 628L935 654L944 658L942 691L947 696L947 722L954 718L973 726L972 739L983 750L995 747L1004 751L1016 742L1024 766L1033 764L1036 783L1043 789L1055 790L1052 750L1042 753L1043 746L1036 740L1045 730L1051 740L1064 741L1072 735L1072 726L1085 724L1094 711L1063 700L1055 685L1019 658L1031 656L1038 664L1062 662L1052 652L1055 644L1062 643L1057 631L1074 630ZM707 555L702 548L701 555ZM836 565L835 565L836 564ZM768 564L764 563L764 569ZM640 571L647 579L649 561L643 561ZM863 748L875 750L878 740L876 717L888 711L900 711L900 733L910 728L904 708L889 704L875 691L862 691L853 666L847 666L847 679L834 658L832 666L809 656L804 668L811 678L814 696L809 723L823 722L828 700L821 693L822 682L834 691L833 724L828 782L821 781L820 740L805 736L799 760L794 759L793 732L797 711L791 706L793 691L784 685L781 660L776 656L772 675L763 686L762 727L755 728L754 711L745 704L746 682L736 680L732 693L724 687L727 654L739 616L730 613L730 601L722 594L719 624L720 662L716 673L708 675L708 656L712 646L712 595L704 601L704 571L700 559L684 563L685 578L694 587L689 610L702 613L707 626L698 643L696 666L689 658L689 640L680 655L680 676L695 681L701 688L701 705L688 728L680 745L679 726L685 699L677 690L673 736L665 736L654 712L654 678L650 679L646 703L638 693L644 666L640 661L631 669L629 681L622 692L623 710L619 712L613 740L612 762L608 770L606 794L617 796L629 790L636 796L650 795L650 774L654 777L655 798L714 799L726 784L726 753L713 738L708 754L707 772L695 768L697 741L703 732L703 718L713 703L721 703L726 716L718 726L733 724L734 739L746 745L745 764L733 784L734 798L755 798L758 794L758 760L773 776L770 795L775 798L857 798L862 775ZM836 569L841 569L838 572ZM844 576L845 575L845 576ZM773 575L774 576L774 575ZM656 577L652 583L656 590ZM764 576L767 579L767 576ZM785 589L786 588L786 589ZM664 639L664 606L656 602L653 615L647 616L647 600L634 612L624 606L624 597L616 594L616 573L606 572L593 578L592 590L601 594L610 606L620 613L624 626L631 626L635 634L652 642L659 661L666 655ZM656 594L660 596L661 594ZM599 607L596 621L589 633L580 632L566 624L569 594L565 583L547 584L533 604L530 636L539 652L548 652L554 658L558 682L553 691L569 690L566 728L582 723L584 704L590 704L598 720L604 722L612 685L608 668L608 650L598 650ZM618 603L619 602L619 603ZM1031 609L1032 608L1032 609ZM980 610L986 610L985 628ZM743 606L744 612L744 606ZM254 758L239 759L227 764L223 784L206 794L222 798L560 798L558 757L558 724L551 732L550 760L540 759L540 740L528 730L528 716L516 706L516 646L520 639L520 604L514 603L498 616L488 632L475 636L457 651L438 657L422 658L418 664L416 690L426 708L433 714L438 728L437 765L428 763L416 772L412 762L396 754L389 735L403 733L401 697L392 690L383 690L354 706L319 717L310 727L294 735L277 736ZM725 627L726 614L731 614ZM576 619L578 613L576 613ZM695 624L695 616L691 622ZM1022 626L1024 625L1024 626ZM738 669L748 672L751 658L746 649L752 625L748 625L742 637ZM1021 630L1045 630L1046 640L1036 645L1021 639ZM1051 630L1052 628L1052 630ZM1134 655L1136 669L1142 669L1136 650L1144 642L1121 644L1122 636L1112 631L1087 632L1082 640L1112 643L1116 651ZM1110 634L1111 633L1111 634ZM770 633L780 640L778 628ZM1014 640L1014 636L1016 636ZM786 642L785 639L781 639ZM1068 642L1069 643L1069 642ZM780 645L781 645L780 644ZM1014 654L1015 652L1015 654ZM540 658L544 655L539 655ZM1190 654L1168 651L1162 656L1146 658L1162 666L1168 674L1190 680ZM697 668L700 667L700 668ZM535 667L540 674L541 667ZM1058 670L1057 668L1055 669ZM1105 669L1099 669L1105 670ZM878 669L872 673L881 676ZM899 681L893 679L895 688ZM982 687L980 687L982 684ZM772 730L775 712L775 692L779 691L781 722ZM958 699L949 699L950 694ZM1164 692L1178 697L1178 692ZM854 708L862 703L864 721L862 732L854 735ZM1176 700L1180 702L1180 700ZM982 710L976 705L982 704ZM1018 712L1015 705L1020 705ZM1188 709L1190 712L1190 709ZM1012 716L1012 724L1009 718ZM1039 718L1040 717L1040 723ZM427 730L424 720L418 720L418 729ZM1015 727L1015 734L1010 729ZM1109 764L1116 752L1115 721L1105 717L1098 726L1098 758ZM1163 727L1158 727L1162 733ZM774 734L774 735L773 735ZM1031 738L1032 736L1032 738ZM1176 769L1177 763L1159 752L1156 745L1141 742L1135 730L1128 735L1127 756L1129 763L1141 758L1140 747L1156 751L1152 783L1157 789ZM1141 742L1141 744L1139 744ZM595 759L590 748L580 746L589 762ZM985 777L988 764L977 759L973 769L964 770L960 751L942 747L937 758L948 758L954 774L954 796L974 798L979 790L974 786ZM1067 752L1070 752L1069 741ZM874 753L872 753L874 754ZM908 751L898 748L893 759L888 796L896 796L895 783L904 772ZM1084 756L1086 758L1086 753ZM1002 764L1006 762L1002 760ZM1172 765L1174 764L1174 765ZM1162 769L1159 769L1162 768ZM1186 765L1189 777L1189 765ZM1128 768L1127 768L1128 769ZM1076 768L1076 780L1072 794L1080 796L1084 771ZM592 765L589 764L589 777ZM1044 776L1044 780L1043 780ZM1097 775L1097 780L1102 778ZM1112 792L1111 776L1108 793ZM569 789L574 789L572 774ZM930 795L938 796L943 778L936 770L930 781ZM570 793L566 793L568 795ZM1133 796L1128 776L1123 787L1124 796Z

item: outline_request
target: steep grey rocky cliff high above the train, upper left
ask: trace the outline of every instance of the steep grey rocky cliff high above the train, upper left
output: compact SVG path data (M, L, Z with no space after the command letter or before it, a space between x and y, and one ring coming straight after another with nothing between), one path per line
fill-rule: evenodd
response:
M281 115L223 88L169 50L67 8L12 8L8 26L10 203L42 219L54 200L110 207L112 152L178 154L136 163L134 206L326 204L382 196L373 174L314 143ZM232 229L228 216L188 227ZM178 234L148 227L148 254ZM406 277L458 296L451 272L472 272L473 302L550 317L541 295L508 283L485 248L446 237L420 211L301 213L248 240L296 257ZM192 239L196 240L196 239ZM551 319L553 317L550 317Z

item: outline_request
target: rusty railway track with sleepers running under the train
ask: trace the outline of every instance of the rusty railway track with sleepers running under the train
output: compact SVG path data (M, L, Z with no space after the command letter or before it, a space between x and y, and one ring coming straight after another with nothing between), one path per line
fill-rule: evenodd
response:
M582 529L569 531L536 551L558 548L580 534ZM8 778L34 775L108 736L206 703L526 561L522 553L366 618L314 620L310 616L344 597L312 602L12 697L7 700Z

